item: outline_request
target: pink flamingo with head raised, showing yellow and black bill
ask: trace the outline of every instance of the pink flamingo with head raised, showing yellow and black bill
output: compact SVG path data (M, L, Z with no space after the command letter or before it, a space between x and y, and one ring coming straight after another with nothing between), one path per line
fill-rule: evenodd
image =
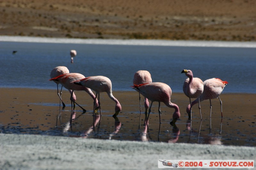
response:
M182 70L181 73L185 73L188 77L183 84L183 92L187 97L189 97L189 103L191 105L191 98L199 98L199 96L204 91L204 84L200 78L193 78L193 73L191 70ZM199 100L198 100L199 101ZM202 120L200 101L199 103L199 112ZM192 119L192 107L190 107L189 118Z

